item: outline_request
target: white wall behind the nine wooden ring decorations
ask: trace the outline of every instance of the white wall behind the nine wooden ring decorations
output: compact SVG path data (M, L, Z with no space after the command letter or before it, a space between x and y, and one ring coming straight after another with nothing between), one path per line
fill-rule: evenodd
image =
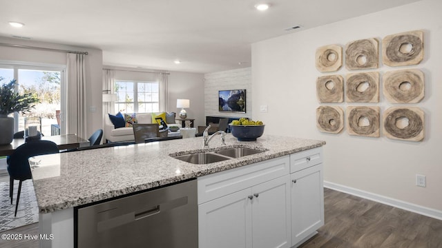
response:
M325 181L352 187L385 198L442 213L442 1L424 0L374 14L323 25L252 45L253 109L268 105L269 112L253 112L266 124L267 134L281 134L327 141ZM425 111L425 139L422 142L386 138L325 134L316 128L316 78L324 74L315 68L316 48L349 41L376 38L412 30L424 31L425 58L419 65L390 68L380 63L377 70L419 68L425 73L425 99L410 106ZM336 73L349 73L345 66ZM347 103L335 104L347 107ZM354 104L364 105L364 104ZM383 111L387 103L381 93L376 104ZM382 125L382 123L381 123ZM427 176L427 187L416 187L416 174Z

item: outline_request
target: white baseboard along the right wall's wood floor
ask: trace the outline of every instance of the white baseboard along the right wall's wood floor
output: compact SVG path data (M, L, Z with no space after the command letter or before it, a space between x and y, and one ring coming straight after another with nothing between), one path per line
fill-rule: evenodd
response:
M416 214L422 214L424 216L428 216L431 218L436 218L438 220L442 220L442 211L439 211L437 209L431 209L429 207L423 207L420 205L416 205L413 203L407 203L403 200L397 200L394 198L390 198L387 196L381 196L379 194L374 194L371 192L366 192L361 189L355 189L352 187L347 187L345 185L339 185L337 183L330 183L327 181L324 181L324 187L327 187L329 189L334 189L338 192L344 192L347 194L352 194L354 196L359 196L368 200L374 200L378 203L383 203L385 205L390 205L392 207L398 207L400 209L404 209L407 211L412 211Z

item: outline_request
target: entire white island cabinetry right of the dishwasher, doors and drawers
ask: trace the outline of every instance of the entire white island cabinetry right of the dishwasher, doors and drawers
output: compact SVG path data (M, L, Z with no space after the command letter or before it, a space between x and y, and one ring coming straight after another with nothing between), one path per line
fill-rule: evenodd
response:
M198 178L200 248L289 248L324 225L322 148Z

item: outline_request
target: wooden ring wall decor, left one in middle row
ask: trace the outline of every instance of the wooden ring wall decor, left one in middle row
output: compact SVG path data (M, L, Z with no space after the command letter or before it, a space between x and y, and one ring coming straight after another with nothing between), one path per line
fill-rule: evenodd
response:
M340 75L319 76L316 79L316 96L320 103L344 101L344 79Z

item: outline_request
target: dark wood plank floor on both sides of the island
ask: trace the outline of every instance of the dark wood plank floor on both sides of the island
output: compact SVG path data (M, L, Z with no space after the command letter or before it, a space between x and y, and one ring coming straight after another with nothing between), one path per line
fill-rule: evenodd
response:
M325 225L302 248L442 248L442 220L324 189ZM38 235L38 225L1 234ZM0 240L2 248L37 248L37 241Z

